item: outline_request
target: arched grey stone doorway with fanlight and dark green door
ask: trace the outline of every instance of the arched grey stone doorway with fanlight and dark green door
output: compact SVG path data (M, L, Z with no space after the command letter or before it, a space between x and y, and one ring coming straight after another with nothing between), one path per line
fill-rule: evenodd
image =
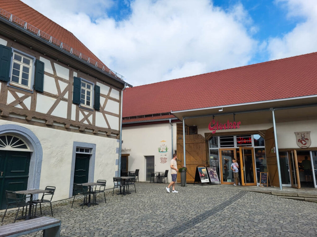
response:
M35 134L19 125L0 125L0 209L5 190L38 189L42 146Z

